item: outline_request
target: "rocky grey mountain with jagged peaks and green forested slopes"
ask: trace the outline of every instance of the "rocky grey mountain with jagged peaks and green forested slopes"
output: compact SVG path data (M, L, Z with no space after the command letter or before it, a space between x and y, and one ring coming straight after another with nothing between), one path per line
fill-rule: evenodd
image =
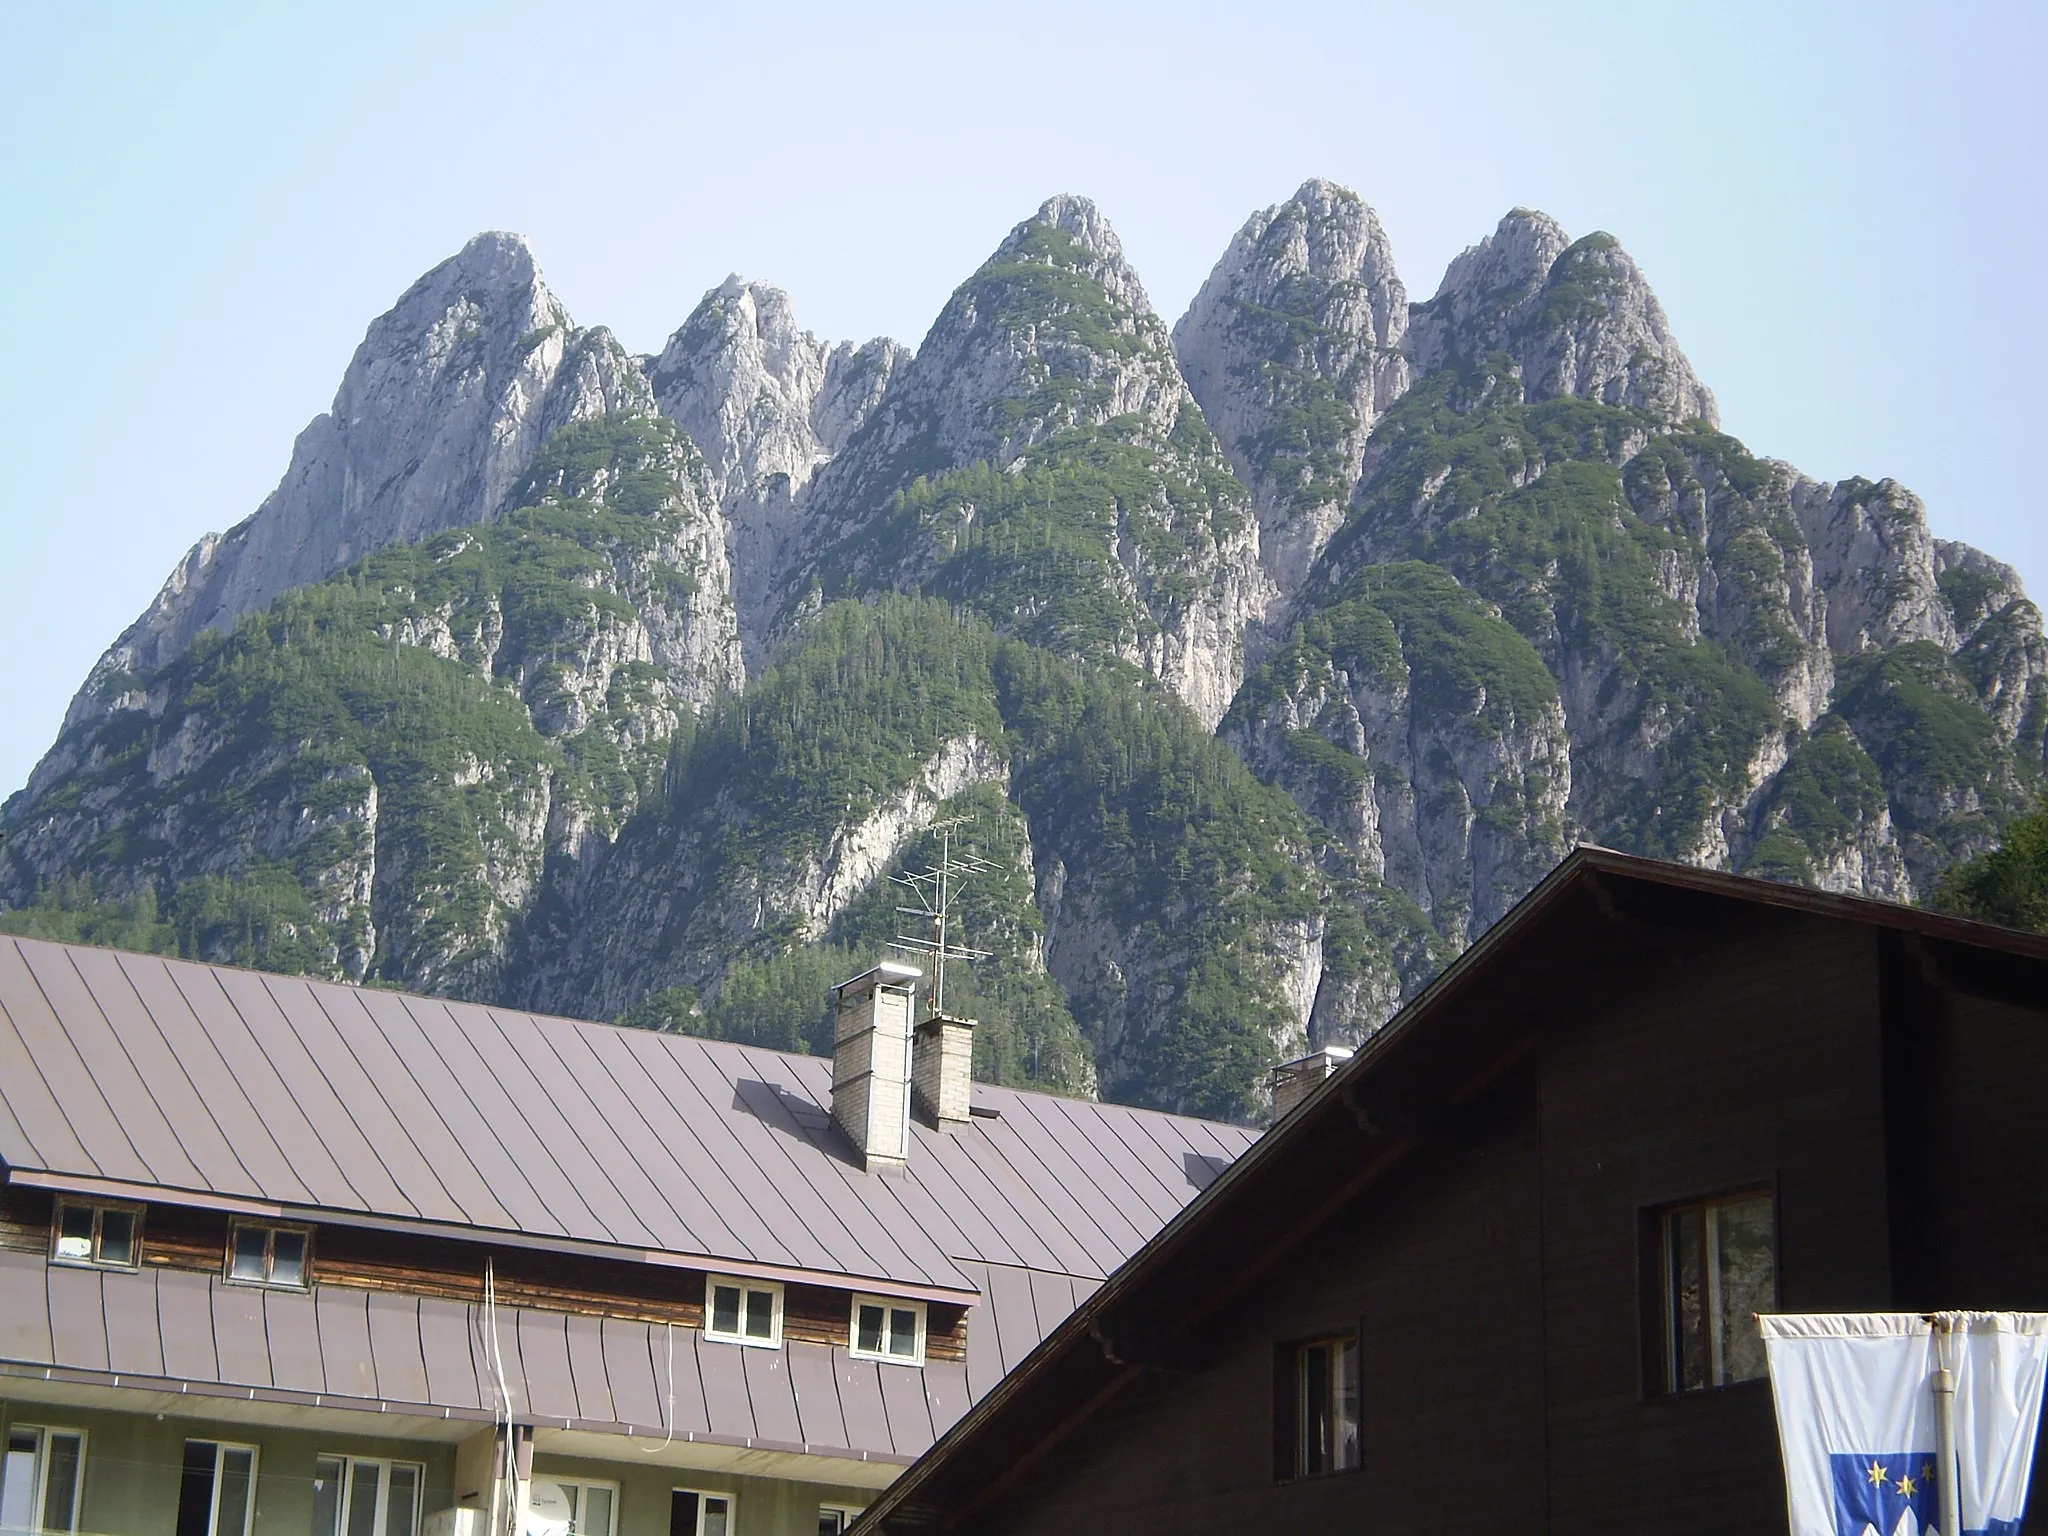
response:
M0 926L819 1047L965 817L979 1069L1255 1116L1577 840L1917 899L2038 797L2013 571L1714 420L1526 209L1411 303L1309 182L1169 332L1061 197L915 354L727 279L631 358L479 236L88 678Z

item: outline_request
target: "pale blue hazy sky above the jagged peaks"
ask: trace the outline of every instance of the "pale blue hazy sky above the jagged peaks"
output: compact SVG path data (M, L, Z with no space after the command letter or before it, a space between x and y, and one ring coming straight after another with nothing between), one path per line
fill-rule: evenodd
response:
M1358 188L1409 293L1610 229L1753 451L1892 475L2048 592L2048 8L0 0L0 795L367 322L477 229L657 350L729 270L915 342L1057 190L1171 319Z

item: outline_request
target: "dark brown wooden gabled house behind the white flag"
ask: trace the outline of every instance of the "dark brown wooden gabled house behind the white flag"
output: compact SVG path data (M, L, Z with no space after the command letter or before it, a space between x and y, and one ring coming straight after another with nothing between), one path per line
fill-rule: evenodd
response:
M1946 1307L2048 1309L2048 940L1579 850L860 1534L1782 1532L1753 1313Z

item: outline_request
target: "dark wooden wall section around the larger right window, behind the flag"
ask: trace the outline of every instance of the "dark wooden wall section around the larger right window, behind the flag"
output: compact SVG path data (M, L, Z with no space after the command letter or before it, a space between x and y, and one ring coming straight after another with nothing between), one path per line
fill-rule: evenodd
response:
M1655 1208L1772 1186L1778 1303L1890 1307L1876 936L1792 913L1645 936L1542 1040L1552 1532L1784 1528L1765 1382L1647 1382Z

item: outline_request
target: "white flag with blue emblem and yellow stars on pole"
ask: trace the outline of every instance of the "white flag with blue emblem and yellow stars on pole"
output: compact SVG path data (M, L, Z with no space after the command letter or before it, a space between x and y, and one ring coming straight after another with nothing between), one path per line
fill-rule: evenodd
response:
M1937 1528L1935 1372L1956 1389L1964 1536L2017 1536L2048 1380L2048 1313L1759 1317L1792 1536Z

